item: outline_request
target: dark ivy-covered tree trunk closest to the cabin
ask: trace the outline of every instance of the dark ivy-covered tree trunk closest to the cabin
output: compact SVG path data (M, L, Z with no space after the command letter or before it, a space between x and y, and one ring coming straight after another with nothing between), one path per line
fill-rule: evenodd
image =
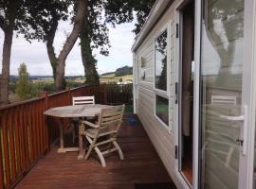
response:
M91 40L89 38L88 25L86 21L82 26L80 41L81 41L82 65L84 68L84 75L86 77L85 83L90 85L98 85L100 84L100 79L99 79L98 72L96 70L97 60L95 60L92 55L92 49L90 45Z

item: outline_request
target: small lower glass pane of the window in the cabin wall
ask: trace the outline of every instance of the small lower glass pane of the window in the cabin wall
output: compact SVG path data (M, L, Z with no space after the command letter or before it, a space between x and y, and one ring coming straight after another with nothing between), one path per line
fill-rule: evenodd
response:
M162 96L156 95L156 116L168 126L169 121L169 100Z

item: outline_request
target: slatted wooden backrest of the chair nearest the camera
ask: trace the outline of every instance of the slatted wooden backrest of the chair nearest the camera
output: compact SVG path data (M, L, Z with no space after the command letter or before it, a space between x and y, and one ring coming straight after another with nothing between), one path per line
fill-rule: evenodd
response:
M102 109L99 116L99 129L107 129L108 133L118 133L122 123L125 105Z

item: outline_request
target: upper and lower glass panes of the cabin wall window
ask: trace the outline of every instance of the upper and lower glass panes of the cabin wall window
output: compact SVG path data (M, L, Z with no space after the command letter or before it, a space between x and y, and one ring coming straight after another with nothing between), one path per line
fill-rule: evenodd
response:
M166 29L155 40L155 116L168 127L167 36Z

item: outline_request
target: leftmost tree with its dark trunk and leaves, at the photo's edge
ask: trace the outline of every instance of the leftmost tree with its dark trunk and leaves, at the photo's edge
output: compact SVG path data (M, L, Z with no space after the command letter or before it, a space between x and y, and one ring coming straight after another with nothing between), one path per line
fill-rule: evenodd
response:
M24 15L22 0L2 0L0 6L0 28L4 32L2 75L0 89L0 104L9 103L9 61L13 30L16 28L17 19Z

